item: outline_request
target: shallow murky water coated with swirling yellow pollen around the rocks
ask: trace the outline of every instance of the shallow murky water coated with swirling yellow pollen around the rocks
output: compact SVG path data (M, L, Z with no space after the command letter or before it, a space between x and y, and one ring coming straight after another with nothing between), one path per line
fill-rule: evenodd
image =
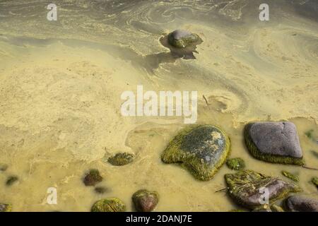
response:
M273 165L247 152L242 128L254 120L290 120L298 127L306 165L318 167L318 14L314 1L63 1L58 20L46 19L48 1L0 2L0 203L14 211L88 211L116 196L131 206L142 188L160 194L158 211L227 211L223 166L209 182L160 160L181 129L180 117L122 117L120 95L145 90L198 90L198 124L222 127L231 157L248 169L299 174L303 194L318 198L317 171ZM175 59L160 37L182 28L204 42L196 59ZM202 98L207 99L208 106ZM136 154L130 165L105 159ZM90 168L104 177L105 194L81 179ZM5 186L8 176L19 182ZM3 185L1 185L3 184ZM57 187L58 205L47 204Z

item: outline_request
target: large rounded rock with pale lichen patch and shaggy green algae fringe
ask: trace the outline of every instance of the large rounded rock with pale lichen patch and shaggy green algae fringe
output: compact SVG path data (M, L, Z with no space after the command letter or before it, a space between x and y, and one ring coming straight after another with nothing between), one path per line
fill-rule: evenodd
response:
M170 141L161 158L181 162L197 179L213 178L230 152L230 139L216 126L189 126Z

